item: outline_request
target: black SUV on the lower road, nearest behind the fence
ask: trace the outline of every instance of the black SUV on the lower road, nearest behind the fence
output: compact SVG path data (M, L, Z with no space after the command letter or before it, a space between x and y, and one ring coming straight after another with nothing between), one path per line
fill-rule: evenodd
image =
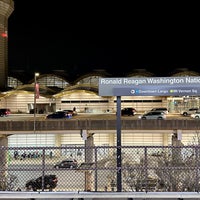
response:
M52 191L54 188L57 186L57 176L54 174L50 175L45 175L44 176L44 188L42 188L42 176L36 178L36 179L31 179L26 182L26 189L27 190L41 190L41 189L48 189L49 191Z

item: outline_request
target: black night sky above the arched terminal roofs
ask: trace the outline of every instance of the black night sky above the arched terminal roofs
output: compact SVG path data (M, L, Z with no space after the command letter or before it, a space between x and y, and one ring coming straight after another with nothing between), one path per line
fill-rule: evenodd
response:
M9 69L72 76L94 69L117 76L136 68L158 76L175 68L200 72L198 26L185 10L116 2L15 0Z

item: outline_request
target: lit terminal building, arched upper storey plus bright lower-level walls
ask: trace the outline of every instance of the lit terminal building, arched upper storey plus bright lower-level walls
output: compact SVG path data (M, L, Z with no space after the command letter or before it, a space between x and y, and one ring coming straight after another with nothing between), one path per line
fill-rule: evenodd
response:
M144 73L145 72L145 73ZM145 76L146 75L146 76ZM145 70L138 70L128 78L152 77ZM198 73L182 71L173 75L198 76ZM43 110L45 114L56 110L73 109L81 113L116 113L116 96L99 95L99 79L106 78L104 71L96 71L78 79L74 84L67 82L56 74L40 75L37 77L40 95L36 100L37 114ZM8 83L12 90L1 93L0 107L6 107L12 113L30 113L34 108L34 80L30 84L22 84L16 78L9 77ZM13 85L11 85L11 83ZM20 83L19 85L14 83ZM56 88L56 90L55 90ZM153 107L167 107L170 113L179 113L184 109L199 107L198 96L121 96L121 107L134 107L143 113ZM123 145L170 145L173 130L122 130ZM196 131L182 131L182 143L192 142ZM94 134L97 146L116 145L116 130L100 131ZM65 132L34 134L15 134L9 136L9 146L84 146L85 141L80 137L80 131L66 130ZM105 149L106 151L106 149ZM70 154L70 152L65 152ZM76 152L73 152L76 155Z

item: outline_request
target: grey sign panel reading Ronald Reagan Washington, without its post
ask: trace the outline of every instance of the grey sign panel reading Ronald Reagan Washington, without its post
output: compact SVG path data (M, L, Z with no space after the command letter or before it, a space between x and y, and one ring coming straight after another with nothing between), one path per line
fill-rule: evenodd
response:
M199 95L199 76L99 79L99 96Z

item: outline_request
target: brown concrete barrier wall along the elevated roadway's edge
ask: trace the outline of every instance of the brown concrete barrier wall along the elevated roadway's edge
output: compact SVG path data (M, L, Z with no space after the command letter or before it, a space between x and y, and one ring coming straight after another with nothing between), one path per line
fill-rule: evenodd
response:
M39 132L67 130L116 130L116 120L109 119L70 119L36 121L35 128ZM34 121L0 121L1 134L15 132L33 133ZM199 120L121 120L122 130L198 130Z

